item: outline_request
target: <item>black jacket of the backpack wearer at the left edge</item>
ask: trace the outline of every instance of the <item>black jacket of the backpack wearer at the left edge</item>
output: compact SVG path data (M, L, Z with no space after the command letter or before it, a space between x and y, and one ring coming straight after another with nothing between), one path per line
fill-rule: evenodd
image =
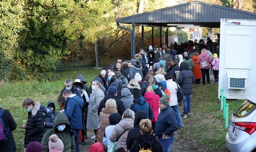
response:
M7 141L0 144L0 151L1 152L15 152L16 145L15 145L14 138L13 138L13 135L11 132L16 129L17 125L8 110L3 111L1 118L4 123L4 127L9 130L9 133L8 133Z

